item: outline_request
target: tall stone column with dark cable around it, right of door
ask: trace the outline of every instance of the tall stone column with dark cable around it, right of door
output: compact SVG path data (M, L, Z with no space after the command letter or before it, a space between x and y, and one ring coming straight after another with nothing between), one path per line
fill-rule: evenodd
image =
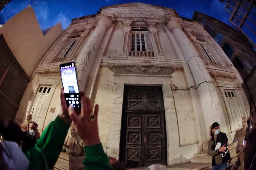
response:
M227 125L220 99L212 82L212 78L193 44L182 31L180 22L180 18L172 18L168 21L167 27L172 31L178 42L195 80L203 109L205 130L206 132L209 132L206 133L207 138L210 137L209 126L212 125L213 122L219 122L221 130L227 133Z

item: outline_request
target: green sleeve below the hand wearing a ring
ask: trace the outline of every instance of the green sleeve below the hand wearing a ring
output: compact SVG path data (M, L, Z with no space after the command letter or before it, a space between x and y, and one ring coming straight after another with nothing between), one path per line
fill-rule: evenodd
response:
M86 170L112 170L109 164L108 156L103 151L102 144L84 146L84 151L86 155L86 157L84 158L84 168Z

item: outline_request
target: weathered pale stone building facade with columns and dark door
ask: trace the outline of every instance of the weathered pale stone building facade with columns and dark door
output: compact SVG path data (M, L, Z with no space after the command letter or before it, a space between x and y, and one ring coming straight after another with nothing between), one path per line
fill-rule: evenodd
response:
M248 118L232 62L202 25L169 8L120 4L72 19L34 71L17 117L33 114L40 130L54 120L59 65L71 60L80 90L100 105L105 152L127 164L186 162L213 122L230 139Z

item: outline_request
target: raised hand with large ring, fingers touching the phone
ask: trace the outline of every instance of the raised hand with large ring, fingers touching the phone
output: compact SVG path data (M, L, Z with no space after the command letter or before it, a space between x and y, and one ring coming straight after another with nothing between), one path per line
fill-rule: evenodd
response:
M90 99L83 96L81 98L81 118L75 113L72 104L68 107L68 113L72 119L72 125L78 136L82 139L85 145L94 145L100 143L99 128L98 128L98 111L99 105L95 106L95 120L90 121L89 115L92 113L92 104ZM92 114L91 114L92 115Z

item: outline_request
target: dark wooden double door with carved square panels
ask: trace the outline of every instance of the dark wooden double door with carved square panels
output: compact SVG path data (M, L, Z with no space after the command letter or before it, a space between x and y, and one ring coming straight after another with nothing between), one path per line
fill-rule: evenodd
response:
M166 165L161 87L125 86L119 155L127 167Z

